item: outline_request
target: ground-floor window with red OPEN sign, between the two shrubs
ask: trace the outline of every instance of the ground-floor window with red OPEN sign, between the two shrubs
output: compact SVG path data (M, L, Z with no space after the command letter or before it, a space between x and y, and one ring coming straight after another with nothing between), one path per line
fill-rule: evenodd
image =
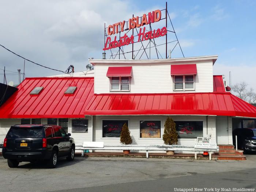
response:
M140 138L161 138L161 121L140 121Z

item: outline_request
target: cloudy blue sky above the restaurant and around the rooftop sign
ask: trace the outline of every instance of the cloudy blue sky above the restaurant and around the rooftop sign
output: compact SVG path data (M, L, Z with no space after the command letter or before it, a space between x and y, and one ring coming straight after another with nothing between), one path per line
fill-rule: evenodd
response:
M165 8L165 1L161 0L0 2L0 44L36 63L62 71L71 64L75 71L84 71L89 57L102 58L104 23L108 26L128 20L132 14L142 16ZM168 11L185 57L217 54L214 74L226 75L228 82L231 71L232 84L244 81L256 91L255 0L172 0L168 1ZM162 26L164 23L159 22L152 27ZM173 39L173 34L168 33L168 41ZM156 39L156 44L164 40ZM168 49L172 46L168 44ZM165 55L165 47L159 46L158 50ZM107 59L109 55L107 52ZM155 57L151 53L151 58ZM172 57L182 57L178 47ZM18 68L23 72L23 63L23 59L0 47L0 82L3 83L5 66L7 82L17 83L18 76L13 72ZM59 72L26 61L25 74L32 77Z

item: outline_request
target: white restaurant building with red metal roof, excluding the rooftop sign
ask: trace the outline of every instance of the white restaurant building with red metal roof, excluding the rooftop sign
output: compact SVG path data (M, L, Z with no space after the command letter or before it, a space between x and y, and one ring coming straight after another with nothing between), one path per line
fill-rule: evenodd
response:
M169 116L176 122L178 144L193 145L208 135L211 143L232 145L232 121L238 127L241 118L255 119L256 108L232 95L221 75L213 75L217 58L93 59L94 74L26 78L0 106L0 140L11 125L33 123L63 126L76 145L120 144L127 123L133 144L163 144ZM31 94L35 87L43 89ZM76 88L65 93L68 87Z

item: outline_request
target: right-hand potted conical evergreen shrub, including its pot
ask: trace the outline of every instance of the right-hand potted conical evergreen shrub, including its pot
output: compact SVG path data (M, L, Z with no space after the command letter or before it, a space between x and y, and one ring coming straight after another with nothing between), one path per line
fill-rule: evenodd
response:
M176 132L176 124L173 119L167 117L165 121L165 129L163 131L163 142L166 145L172 145L178 143L178 134ZM167 155L173 155L174 151L166 151Z

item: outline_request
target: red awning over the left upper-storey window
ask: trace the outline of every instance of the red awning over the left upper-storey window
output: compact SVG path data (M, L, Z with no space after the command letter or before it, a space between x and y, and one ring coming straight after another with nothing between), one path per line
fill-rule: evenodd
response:
M131 77L132 67L109 67L107 77Z

